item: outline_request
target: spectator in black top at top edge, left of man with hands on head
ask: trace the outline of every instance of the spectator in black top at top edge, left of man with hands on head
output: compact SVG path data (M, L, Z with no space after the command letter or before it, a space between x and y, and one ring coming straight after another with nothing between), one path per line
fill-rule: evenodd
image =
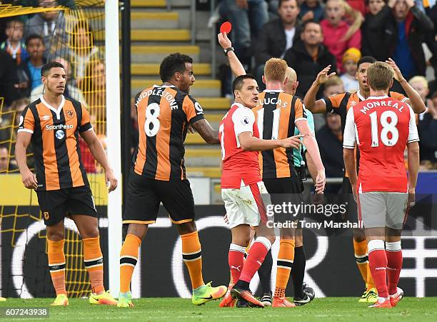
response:
M388 48L381 46L384 43L385 28L378 26L374 28L373 19L376 14L386 5L384 0L369 0L368 14L361 26L361 53L363 56L372 56L377 61L386 61L388 59Z

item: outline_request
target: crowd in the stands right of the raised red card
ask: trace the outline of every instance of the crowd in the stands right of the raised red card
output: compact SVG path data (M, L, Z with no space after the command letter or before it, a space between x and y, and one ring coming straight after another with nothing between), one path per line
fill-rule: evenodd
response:
M339 77L330 79L317 99L357 91L355 74L362 56L393 59L426 102L426 111L416 118L421 170L437 169L436 0L221 0L218 12L222 21L231 21L236 54L260 89L264 63L272 57L285 59L296 70L296 95L302 99L328 65ZM222 75L223 94L231 97L228 74ZM392 90L403 93L397 82ZM314 116L326 176L341 177L339 117Z

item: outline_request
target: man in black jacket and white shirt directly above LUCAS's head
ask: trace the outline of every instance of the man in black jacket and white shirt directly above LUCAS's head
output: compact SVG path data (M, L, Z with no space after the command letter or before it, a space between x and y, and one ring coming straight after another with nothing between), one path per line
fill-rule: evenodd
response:
M279 17L268 21L261 30L255 51L255 75L261 89L264 87L261 76L264 74L266 61L273 57L283 58L287 49L291 48L299 38L298 14L299 8L296 0L281 0L278 4Z

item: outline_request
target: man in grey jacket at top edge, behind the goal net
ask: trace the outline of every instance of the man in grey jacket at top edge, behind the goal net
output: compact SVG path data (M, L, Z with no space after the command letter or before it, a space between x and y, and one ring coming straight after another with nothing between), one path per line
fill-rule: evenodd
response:
M58 1L56 0L39 0L39 6L44 8L53 8L58 6ZM47 11L41 14L35 14L29 21L27 21L25 28L26 38L32 34L41 35L44 40L44 46L46 52L44 56L50 56L50 49L53 47L56 49L56 41L61 41L63 44L66 43L65 34L65 19L62 11Z

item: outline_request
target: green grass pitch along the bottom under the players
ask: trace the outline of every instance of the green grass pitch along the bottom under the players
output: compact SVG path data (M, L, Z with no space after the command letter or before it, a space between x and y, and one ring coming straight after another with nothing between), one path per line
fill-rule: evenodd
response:
M52 299L9 298L0 307L48 307ZM437 321L437 298L403 298L396 308L369 309L357 298L316 298L296 308L218 308L218 301L193 306L184 298L141 298L134 308L91 306L70 299L67 308L49 308L49 318L7 318L9 321ZM5 318L1 316L0 318ZM1 321L1 320L0 320ZM5 320L6 321L6 320Z

